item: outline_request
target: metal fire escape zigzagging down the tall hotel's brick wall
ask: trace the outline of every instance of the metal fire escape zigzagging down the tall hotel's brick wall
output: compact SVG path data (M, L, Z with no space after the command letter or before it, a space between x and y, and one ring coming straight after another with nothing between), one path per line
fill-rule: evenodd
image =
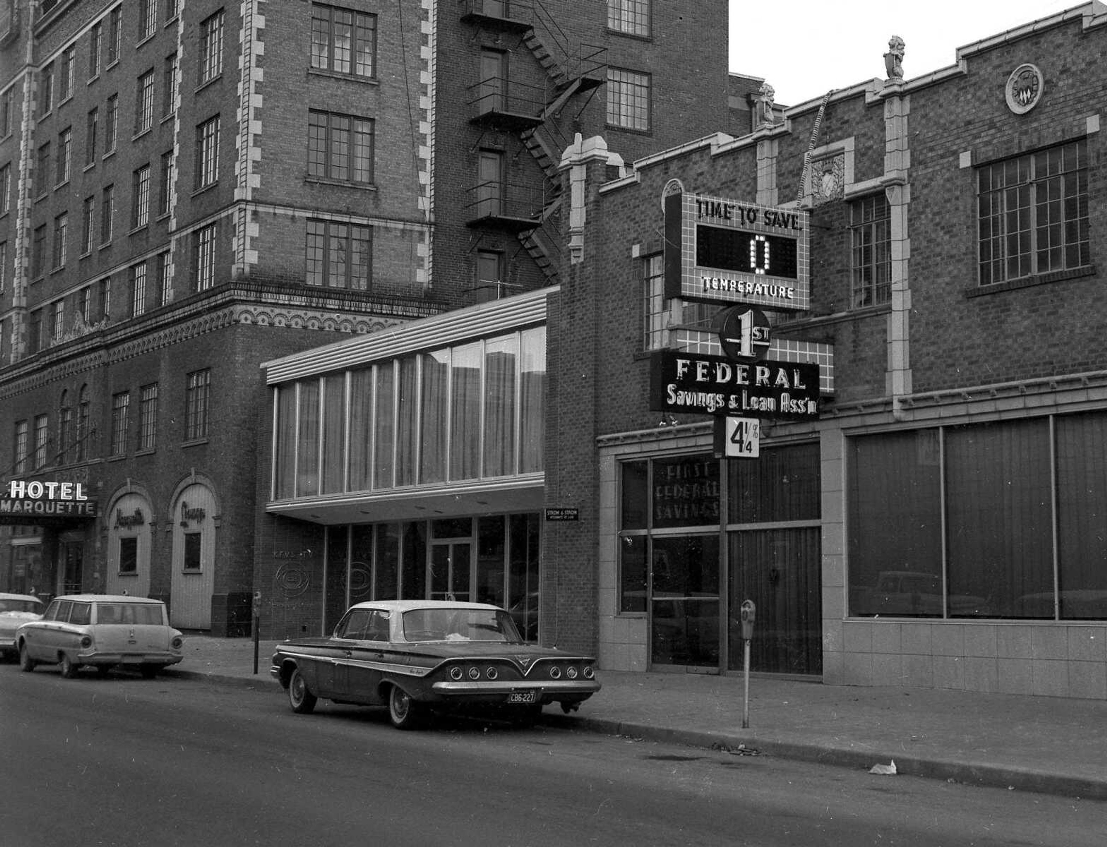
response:
M477 95L470 99L470 103L476 113L470 122L484 126L486 131L498 128L517 133L546 178L540 204L531 205L527 218L497 215L494 219L493 216L482 216L470 220L469 225L496 223L500 228L513 230L547 279L556 281L560 266L560 234L556 228L551 234L545 224L561 209L558 151L569 143L557 121L570 104L578 102L575 116L579 116L607 81L607 48L591 44L573 48L541 0L458 1L462 20L477 30L475 38L482 31L519 35L520 45L526 45L548 80L545 93L530 99L534 107L529 111L523 105L527 100L526 93L521 97L506 96L488 80L474 86ZM513 85L513 92L518 87Z

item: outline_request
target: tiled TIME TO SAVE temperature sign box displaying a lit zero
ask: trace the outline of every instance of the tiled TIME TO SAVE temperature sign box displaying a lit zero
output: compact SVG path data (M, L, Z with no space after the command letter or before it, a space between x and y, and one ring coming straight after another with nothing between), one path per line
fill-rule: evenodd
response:
M665 297L809 307L806 209L673 193L665 208Z

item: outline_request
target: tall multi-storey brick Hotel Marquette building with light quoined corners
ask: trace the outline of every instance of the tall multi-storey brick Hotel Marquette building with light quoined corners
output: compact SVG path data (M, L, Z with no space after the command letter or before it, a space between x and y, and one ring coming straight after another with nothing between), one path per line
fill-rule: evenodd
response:
M245 634L259 364L556 281L563 138L741 113L672 6L0 0L0 587Z

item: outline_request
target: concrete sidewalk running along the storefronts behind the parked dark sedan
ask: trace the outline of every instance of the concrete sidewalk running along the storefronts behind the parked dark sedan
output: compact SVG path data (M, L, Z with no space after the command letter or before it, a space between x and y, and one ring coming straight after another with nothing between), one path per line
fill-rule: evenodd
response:
M188 636L166 675L280 690L276 641ZM1107 701L931 689L856 688L753 678L749 729L743 679L599 671L603 689L579 712L548 706L545 723L699 747L1107 799Z

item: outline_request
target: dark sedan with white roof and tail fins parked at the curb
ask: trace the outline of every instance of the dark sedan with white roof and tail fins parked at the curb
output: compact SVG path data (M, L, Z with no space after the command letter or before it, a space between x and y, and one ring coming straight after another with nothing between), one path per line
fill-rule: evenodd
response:
M356 603L331 636L278 645L270 673L293 712L320 699L386 705L401 730L434 712L526 723L547 703L570 712L600 690L592 657L527 643L498 606L447 600Z

